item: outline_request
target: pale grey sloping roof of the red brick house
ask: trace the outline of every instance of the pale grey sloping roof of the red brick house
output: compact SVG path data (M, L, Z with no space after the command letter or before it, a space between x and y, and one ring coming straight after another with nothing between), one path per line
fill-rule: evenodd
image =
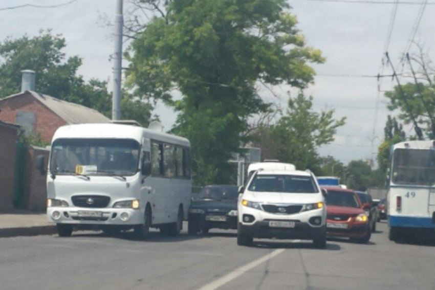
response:
M50 110L53 111L54 114L62 118L68 124L110 122L110 119L99 113L99 111L97 110L31 91L25 91L23 93L6 97L4 99L1 99L0 102L11 98L19 97L24 94L32 95L35 99L47 106Z

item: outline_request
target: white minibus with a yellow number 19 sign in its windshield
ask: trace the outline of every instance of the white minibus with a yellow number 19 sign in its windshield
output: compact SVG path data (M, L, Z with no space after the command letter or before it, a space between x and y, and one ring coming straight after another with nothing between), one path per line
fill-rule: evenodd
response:
M177 235L191 199L190 143L132 124L62 126L47 170L47 217L59 236L97 227L107 234L150 228ZM44 157L37 166L45 173Z

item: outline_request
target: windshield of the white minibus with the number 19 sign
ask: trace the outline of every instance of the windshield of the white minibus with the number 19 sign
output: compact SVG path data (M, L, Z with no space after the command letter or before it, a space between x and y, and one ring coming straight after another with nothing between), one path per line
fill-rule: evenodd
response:
M129 139L58 139L50 171L55 174L133 175L139 165L139 143Z

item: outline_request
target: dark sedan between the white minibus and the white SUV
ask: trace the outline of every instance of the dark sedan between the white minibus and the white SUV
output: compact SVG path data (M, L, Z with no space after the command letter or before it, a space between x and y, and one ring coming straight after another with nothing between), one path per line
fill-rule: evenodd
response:
M194 197L189 209L190 235L209 229L237 229L237 186L209 185Z

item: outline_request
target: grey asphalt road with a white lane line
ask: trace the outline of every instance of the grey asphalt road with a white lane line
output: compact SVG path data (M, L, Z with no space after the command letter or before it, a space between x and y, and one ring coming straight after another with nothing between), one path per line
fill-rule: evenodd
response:
M186 228L186 227L185 227ZM238 247L234 231L137 241L99 232L0 239L0 289L430 289L435 241L369 244L256 240Z

